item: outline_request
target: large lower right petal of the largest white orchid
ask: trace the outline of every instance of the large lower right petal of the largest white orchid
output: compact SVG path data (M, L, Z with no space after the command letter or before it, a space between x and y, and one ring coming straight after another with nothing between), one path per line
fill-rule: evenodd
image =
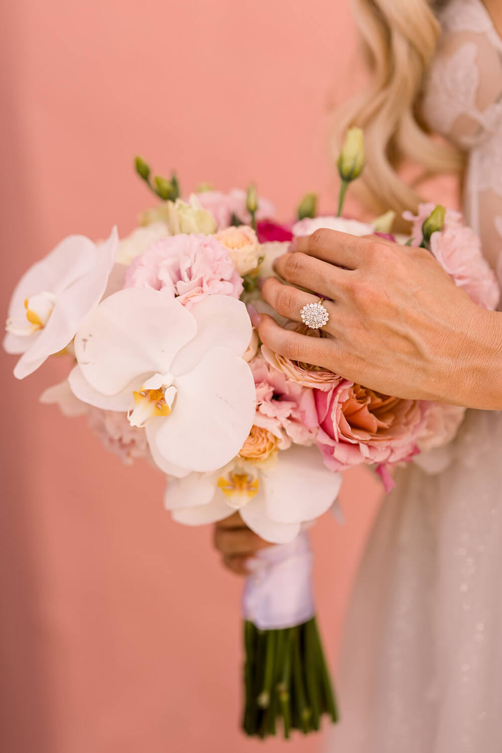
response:
M175 406L157 433L157 449L191 471L227 465L244 444L254 419L251 369L227 348L214 348L176 379Z

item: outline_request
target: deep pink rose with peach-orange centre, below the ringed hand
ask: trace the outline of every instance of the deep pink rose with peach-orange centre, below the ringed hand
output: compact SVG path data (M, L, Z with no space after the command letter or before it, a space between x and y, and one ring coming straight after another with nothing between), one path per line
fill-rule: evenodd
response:
M380 395L343 380L330 392L315 389L317 444L332 471L354 465L409 460L427 416L427 403Z

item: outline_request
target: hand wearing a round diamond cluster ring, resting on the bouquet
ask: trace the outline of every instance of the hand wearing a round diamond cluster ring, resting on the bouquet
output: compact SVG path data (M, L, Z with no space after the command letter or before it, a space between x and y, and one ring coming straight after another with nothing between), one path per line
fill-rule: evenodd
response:
M429 252L316 230L275 270L328 299L323 332L332 336L307 337L257 316L260 338L275 352L387 395L502 408L502 315L476 306ZM296 322L318 300L273 277L262 294Z

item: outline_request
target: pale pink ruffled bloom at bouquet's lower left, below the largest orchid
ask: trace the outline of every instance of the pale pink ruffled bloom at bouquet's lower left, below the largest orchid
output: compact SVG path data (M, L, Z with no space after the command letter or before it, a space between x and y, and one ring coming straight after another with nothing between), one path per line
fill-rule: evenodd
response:
M145 430L131 426L125 413L90 407L87 422L108 450L126 465L136 458L151 458Z

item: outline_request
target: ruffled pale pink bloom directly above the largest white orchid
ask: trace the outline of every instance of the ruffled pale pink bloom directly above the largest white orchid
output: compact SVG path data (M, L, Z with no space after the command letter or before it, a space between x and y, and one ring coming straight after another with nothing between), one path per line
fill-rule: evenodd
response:
M211 294L239 298L242 279L228 249L205 235L175 235L158 240L132 260L125 288L163 290L181 303Z

